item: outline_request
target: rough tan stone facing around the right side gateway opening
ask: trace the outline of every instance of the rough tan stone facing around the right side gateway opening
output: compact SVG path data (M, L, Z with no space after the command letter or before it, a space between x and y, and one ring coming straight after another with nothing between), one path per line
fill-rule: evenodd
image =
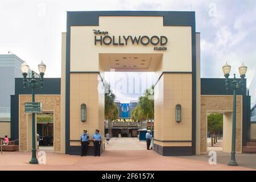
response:
M226 114L232 110L233 96L201 96L201 153L207 152L207 113ZM236 151L242 152L242 96L237 96L236 118Z

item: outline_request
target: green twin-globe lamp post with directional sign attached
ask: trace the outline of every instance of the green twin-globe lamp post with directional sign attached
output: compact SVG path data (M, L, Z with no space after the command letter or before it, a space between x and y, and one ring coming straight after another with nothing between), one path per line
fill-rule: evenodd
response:
M28 85L32 89L32 102L35 102L35 88L36 86L40 85L41 89L43 89L43 78L44 72L46 71L46 65L43 63L43 61L38 65L38 69L40 72L40 84L38 84L38 82L36 81L34 71L32 71L32 78L27 78L29 68L30 67L26 63L23 63L20 66L23 75L23 88L26 89L26 86ZM30 160L30 164L38 164L38 159L36 158L35 113L32 113L32 157Z

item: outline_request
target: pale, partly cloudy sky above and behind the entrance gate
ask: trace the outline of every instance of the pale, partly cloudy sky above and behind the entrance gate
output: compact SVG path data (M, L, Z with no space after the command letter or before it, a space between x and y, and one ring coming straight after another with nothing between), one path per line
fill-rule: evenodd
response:
M43 60L47 65L45 77L60 77L61 32L66 32L66 11L94 10L195 11L196 32L201 33L201 77L222 78L221 67L228 61L232 74L239 75L238 67L242 63L248 67L247 85L253 79L255 0L1 0L0 54L10 51L35 70ZM119 77L124 73L120 74ZM130 74L134 77L135 73ZM147 80L152 78L152 73L136 74L146 76ZM129 80L127 74L125 77ZM148 82L150 86L152 83ZM127 95L115 90L117 99L122 102L137 100L142 93L143 90Z

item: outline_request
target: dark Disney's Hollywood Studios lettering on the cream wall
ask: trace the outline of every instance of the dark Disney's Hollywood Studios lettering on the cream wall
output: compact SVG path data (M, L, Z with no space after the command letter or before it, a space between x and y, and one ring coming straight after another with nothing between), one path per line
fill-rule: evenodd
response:
M94 45L100 44L102 45L113 45L113 46L127 46L129 43L133 45L142 45L148 46L151 44L154 47L154 50L167 50L166 46L168 39L166 36L147 36L147 35L140 35L140 36L109 36L108 31L100 31L100 30L93 30L94 32Z

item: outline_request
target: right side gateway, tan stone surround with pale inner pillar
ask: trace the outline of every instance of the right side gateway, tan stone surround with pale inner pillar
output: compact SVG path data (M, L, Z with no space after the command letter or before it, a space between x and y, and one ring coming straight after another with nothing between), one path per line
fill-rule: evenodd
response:
M233 96L201 96L201 153L207 153L207 114L223 114L223 151L231 151ZM242 96L237 96L236 152L242 152Z

